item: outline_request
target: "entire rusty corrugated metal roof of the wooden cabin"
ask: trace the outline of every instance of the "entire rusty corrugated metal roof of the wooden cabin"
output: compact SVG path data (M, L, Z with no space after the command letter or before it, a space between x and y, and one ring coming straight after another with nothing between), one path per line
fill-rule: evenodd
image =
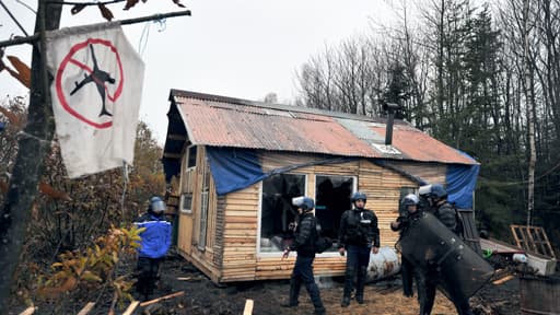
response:
M370 117L314 108L270 105L218 95L172 90L189 139L195 144L475 164L455 149L398 121L395 154L383 144L385 124Z

